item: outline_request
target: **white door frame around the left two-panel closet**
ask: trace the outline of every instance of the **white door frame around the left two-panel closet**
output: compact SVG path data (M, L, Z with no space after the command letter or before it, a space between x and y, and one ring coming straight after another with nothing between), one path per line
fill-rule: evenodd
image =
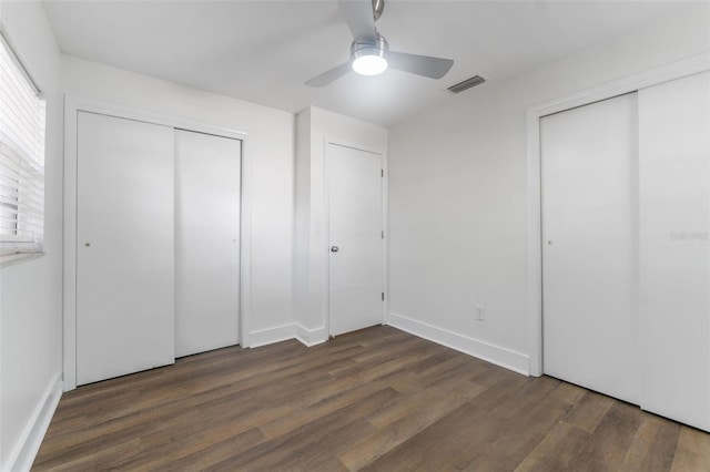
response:
M251 284L251 186L252 163L248 158L246 133L222 129L176 116L151 113L102 101L64 95L64 242L63 242L63 387L77 388L77 171L78 114L98 113L120 119L142 121L197 133L236 138L242 142L242 182L240 215L240 345L250 346L250 284Z

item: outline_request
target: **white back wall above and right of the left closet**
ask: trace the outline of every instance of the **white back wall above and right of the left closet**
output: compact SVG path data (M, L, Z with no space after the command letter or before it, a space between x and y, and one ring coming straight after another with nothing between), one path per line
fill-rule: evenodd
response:
M67 94L246 133L252 163L251 327L254 343L292 322L294 116L262 105L63 55Z

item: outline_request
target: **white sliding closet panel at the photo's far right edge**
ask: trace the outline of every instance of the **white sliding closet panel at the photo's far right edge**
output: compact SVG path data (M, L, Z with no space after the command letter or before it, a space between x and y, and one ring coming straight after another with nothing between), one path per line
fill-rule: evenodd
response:
M710 431L710 73L639 92L641 408Z

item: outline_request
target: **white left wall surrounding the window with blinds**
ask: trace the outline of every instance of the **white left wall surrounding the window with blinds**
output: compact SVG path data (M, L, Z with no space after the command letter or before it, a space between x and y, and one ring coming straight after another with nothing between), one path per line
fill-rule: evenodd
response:
M0 470L7 471L33 455L20 448L37 439L34 420L61 376L62 96L60 53L41 3L0 7L3 33L47 98L45 255L0 269Z

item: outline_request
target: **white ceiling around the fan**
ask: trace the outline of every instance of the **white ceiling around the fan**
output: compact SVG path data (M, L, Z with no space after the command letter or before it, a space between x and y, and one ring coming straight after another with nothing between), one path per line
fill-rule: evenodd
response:
M452 71L438 81L395 70L351 73L324 89L304 82L345 62L352 40L334 0L45 0L44 7L67 54L288 112L313 104L389 126L457 100L446 88L470 75L509 78L682 3L387 0L377 28L390 48L454 59Z

